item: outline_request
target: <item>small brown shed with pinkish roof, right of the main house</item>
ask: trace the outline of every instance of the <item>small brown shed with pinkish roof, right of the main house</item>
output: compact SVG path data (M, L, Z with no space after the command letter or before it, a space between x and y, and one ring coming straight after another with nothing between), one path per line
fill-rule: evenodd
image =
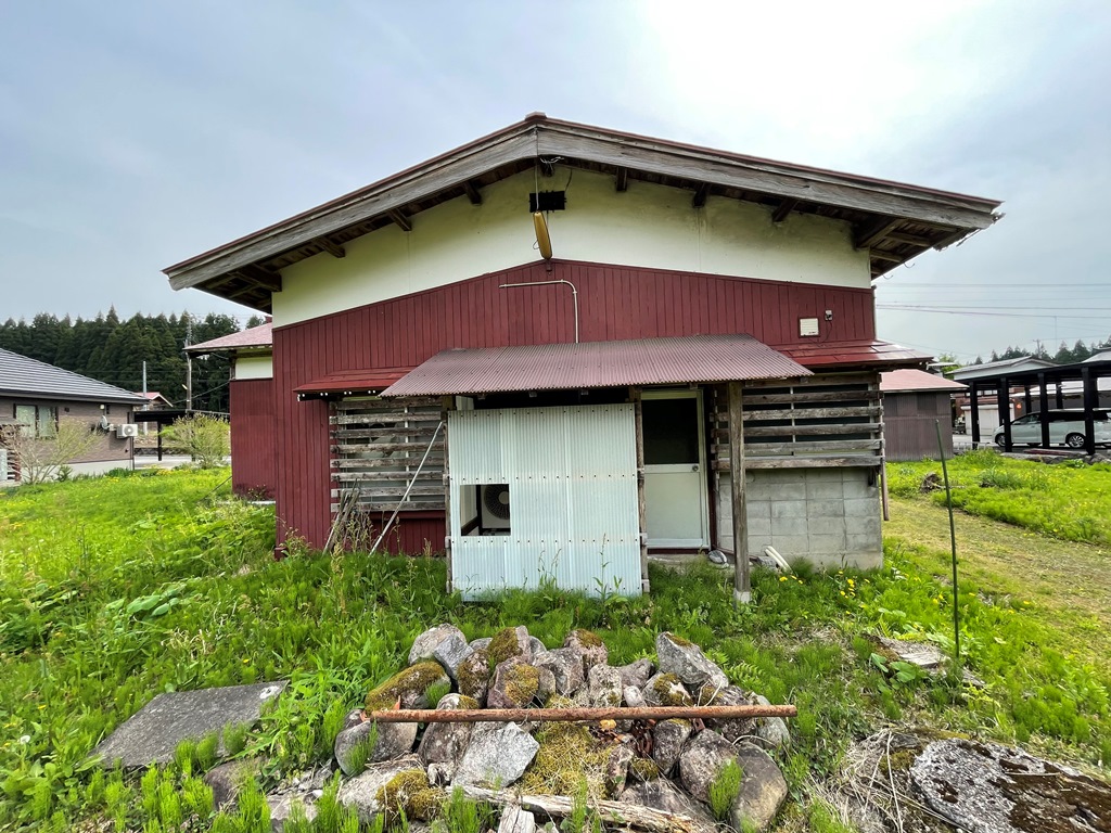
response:
M953 397L967 385L923 370L880 374L883 448L888 460L938 459L938 422L945 458L953 455Z

